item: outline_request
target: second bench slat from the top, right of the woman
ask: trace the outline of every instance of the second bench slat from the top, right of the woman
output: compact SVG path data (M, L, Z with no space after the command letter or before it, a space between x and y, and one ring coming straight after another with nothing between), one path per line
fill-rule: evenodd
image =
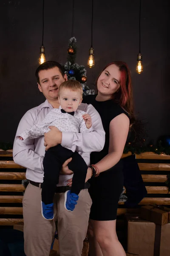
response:
M170 163L138 163L141 171L169 171Z

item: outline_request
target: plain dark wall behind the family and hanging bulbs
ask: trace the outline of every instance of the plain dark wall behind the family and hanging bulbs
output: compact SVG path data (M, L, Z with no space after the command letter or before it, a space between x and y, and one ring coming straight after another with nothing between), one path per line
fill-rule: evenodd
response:
M94 0L96 65L89 69L91 0L75 0L77 63L87 67L88 85L93 87L105 64L126 61L132 74L135 112L148 122L148 135L153 140L170 134L169 13L169 0L142 0L144 72L138 75L139 0ZM71 0L45 0L47 60L65 63L71 20ZM44 101L34 76L42 40L42 0L1 0L0 35L0 142L12 142L23 114Z

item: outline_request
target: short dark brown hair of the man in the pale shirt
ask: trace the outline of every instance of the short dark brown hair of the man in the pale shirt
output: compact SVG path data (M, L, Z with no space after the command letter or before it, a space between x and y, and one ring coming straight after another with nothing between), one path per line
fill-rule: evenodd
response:
M53 67L58 67L60 73L62 74L62 77L64 77L65 72L64 72L64 68L62 67L61 64L59 64L57 61L45 61L39 67L37 67L37 70L35 71L35 76L36 76L37 82L39 84L40 84L39 72L41 70L48 70L48 69L51 69Z

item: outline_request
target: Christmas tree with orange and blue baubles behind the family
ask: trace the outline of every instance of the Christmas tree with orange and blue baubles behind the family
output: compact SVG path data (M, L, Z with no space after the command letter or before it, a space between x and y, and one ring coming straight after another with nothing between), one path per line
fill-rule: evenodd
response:
M79 65L75 62L77 55L77 40L75 37L70 38L68 41L68 47L67 62L63 66L65 74L68 76L68 79L74 79L81 83L84 95L94 94L95 90L90 89L86 84L87 71L85 66Z

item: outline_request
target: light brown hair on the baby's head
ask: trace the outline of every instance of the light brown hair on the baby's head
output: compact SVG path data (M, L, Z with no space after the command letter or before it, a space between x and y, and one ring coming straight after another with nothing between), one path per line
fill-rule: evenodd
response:
M82 96L83 90L82 90L82 85L80 84L79 81L77 80L68 80L63 82L60 86L59 86L59 92L58 92L58 96L61 92L61 90L63 89L70 89L72 91L79 91L79 93Z

